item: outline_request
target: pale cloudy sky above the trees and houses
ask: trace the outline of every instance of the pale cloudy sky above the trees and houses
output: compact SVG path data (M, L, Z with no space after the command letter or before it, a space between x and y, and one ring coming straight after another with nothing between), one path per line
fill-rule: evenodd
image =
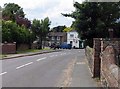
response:
M25 17L29 20L44 19L49 17L51 21L50 27L59 25L71 26L73 18L64 17L61 13L71 13L75 10L73 2L81 3L84 0L0 0L0 6L5 3L15 3L23 8Z

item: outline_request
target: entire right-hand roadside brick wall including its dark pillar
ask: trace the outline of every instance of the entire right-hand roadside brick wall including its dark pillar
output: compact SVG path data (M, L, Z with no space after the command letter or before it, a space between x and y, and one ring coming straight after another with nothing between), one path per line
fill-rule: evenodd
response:
M120 75L118 75L120 58L118 55L120 55L120 39L118 38L95 38L93 54L90 55L86 50L93 77L99 77L104 87L118 88L118 82L120 82Z

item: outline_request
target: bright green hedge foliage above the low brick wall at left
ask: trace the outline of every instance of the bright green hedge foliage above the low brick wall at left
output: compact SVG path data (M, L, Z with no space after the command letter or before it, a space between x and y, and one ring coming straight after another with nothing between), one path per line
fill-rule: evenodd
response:
M35 36L24 26L20 27L15 22L3 21L2 22L2 42L16 42L29 44L35 40Z

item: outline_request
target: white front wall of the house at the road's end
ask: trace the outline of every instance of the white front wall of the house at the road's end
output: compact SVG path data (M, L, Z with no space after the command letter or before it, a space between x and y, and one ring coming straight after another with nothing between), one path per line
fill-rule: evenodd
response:
M73 37L72 37L73 36ZM79 38L77 32L67 32L67 44L70 44L70 41L72 41L72 47L79 48Z

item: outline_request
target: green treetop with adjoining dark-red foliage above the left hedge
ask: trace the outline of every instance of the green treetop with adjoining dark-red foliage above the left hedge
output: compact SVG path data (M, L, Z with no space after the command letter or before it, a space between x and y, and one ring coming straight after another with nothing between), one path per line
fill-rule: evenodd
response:
M18 25L24 25L26 28L30 28L31 22L25 18L23 8L14 3L6 3L3 8L3 19L16 22Z

